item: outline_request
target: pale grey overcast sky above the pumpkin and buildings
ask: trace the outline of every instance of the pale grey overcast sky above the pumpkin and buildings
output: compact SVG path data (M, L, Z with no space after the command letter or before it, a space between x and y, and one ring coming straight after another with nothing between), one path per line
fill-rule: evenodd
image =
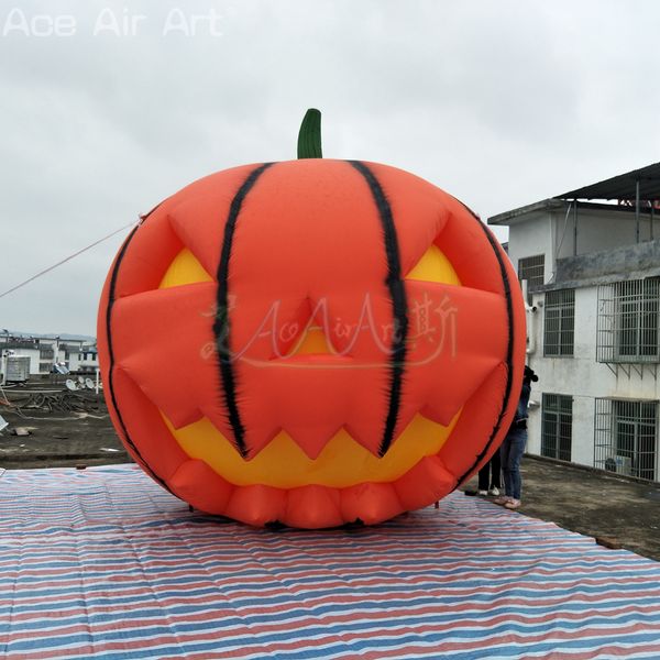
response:
M653 0L0 0L0 293L202 175L295 157L308 107L326 156L484 219L660 161L658 25ZM121 239L0 298L0 328L94 334Z

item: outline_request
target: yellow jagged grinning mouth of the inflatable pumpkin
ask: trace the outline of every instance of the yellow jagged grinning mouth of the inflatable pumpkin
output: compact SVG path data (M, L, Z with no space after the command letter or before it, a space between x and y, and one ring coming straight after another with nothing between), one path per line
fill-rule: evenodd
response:
M175 429L161 413L169 432L193 459L201 459L220 476L238 486L263 484L295 488L308 484L343 488L364 482L391 482L404 475L424 457L437 454L451 435L460 411L449 426L417 415L383 457L355 442L340 430L316 459L280 431L250 461L211 424L208 417Z

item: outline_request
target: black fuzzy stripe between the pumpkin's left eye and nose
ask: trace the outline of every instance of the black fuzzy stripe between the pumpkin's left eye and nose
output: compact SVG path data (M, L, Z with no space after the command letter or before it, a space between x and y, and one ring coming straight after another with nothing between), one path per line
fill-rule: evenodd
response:
M237 377L231 360L230 345L230 322L229 322L229 263L233 246L233 237L237 229L237 222L245 197L254 187L258 177L273 165L265 163L253 169L243 182L239 191L234 195L229 207L229 216L224 226L224 238L222 241L222 251L220 253L220 263L218 264L218 295L216 320L213 321L213 334L216 337L216 348L218 350L218 360L220 363L220 377L222 380L222 398L229 415L237 449L243 458L248 455L245 446L245 428L241 421L241 414L237 403Z

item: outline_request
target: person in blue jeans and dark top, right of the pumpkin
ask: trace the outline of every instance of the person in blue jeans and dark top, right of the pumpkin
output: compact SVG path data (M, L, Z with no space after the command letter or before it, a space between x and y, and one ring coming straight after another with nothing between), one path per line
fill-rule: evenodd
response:
M502 470L504 472L505 494L493 502L495 502L495 504L502 504L508 509L517 509L520 507L522 487L520 459L525 453L525 446L527 444L527 408L529 406L531 383L536 383L538 380L539 377L535 374L534 370L525 365L522 391L520 393L520 398L518 399L516 415L504 442L499 448Z

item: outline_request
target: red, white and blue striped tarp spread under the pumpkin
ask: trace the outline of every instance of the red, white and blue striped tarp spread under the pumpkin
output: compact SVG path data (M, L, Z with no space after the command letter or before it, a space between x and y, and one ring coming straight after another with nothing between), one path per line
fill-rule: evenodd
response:
M660 564L455 493L251 529L135 466L0 477L8 658L660 658Z

